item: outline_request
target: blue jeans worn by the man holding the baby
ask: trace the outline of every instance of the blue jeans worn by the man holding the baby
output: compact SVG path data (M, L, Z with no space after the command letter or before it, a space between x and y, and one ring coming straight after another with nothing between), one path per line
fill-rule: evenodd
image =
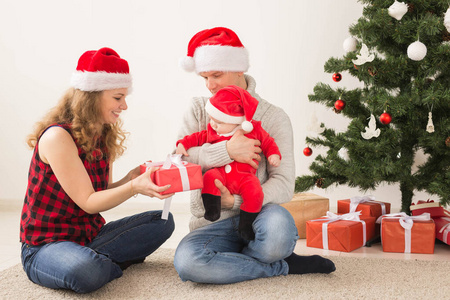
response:
M239 216L190 232L178 245L174 265L181 280L228 284L287 275L283 260L298 240L291 214L279 205L265 205L253 222L255 239L238 233Z

